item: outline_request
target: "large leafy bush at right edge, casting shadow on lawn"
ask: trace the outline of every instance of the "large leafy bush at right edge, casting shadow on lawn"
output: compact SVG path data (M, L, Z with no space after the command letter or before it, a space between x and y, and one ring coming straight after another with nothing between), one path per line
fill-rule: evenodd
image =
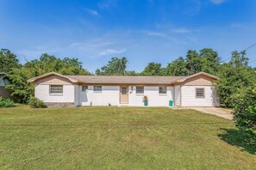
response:
M234 121L247 134L247 142L256 144L256 88L237 94L234 100Z

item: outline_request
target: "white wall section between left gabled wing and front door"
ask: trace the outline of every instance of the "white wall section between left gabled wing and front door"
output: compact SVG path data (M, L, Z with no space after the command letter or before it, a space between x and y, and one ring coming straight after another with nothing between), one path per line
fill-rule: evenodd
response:
M88 86L86 92L78 86L78 106L118 106L119 86L103 86L102 92L94 92L93 86Z

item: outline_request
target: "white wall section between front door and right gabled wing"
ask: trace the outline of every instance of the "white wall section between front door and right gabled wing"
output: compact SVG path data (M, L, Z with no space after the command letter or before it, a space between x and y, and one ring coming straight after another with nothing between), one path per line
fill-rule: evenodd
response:
M129 87L129 104L128 106L144 106L142 97L147 95L148 106L169 106L169 100L172 99L173 87L167 87L166 94L159 94L159 86L145 86L144 94L136 94L136 87L133 91Z

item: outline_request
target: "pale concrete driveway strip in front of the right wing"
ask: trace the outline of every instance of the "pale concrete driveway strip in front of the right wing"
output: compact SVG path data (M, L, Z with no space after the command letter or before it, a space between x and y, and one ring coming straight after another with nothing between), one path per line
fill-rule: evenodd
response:
M205 112L213 114L222 118L227 118L229 120L233 119L233 114L231 114L231 109L220 108L220 107L188 107L190 109L197 110L199 112Z

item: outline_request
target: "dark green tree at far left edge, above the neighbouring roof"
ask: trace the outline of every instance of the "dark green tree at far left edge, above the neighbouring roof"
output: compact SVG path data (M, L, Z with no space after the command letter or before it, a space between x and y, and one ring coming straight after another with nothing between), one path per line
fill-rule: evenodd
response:
M12 68L20 68L19 60L16 55L8 49L0 51L0 72L8 73Z

